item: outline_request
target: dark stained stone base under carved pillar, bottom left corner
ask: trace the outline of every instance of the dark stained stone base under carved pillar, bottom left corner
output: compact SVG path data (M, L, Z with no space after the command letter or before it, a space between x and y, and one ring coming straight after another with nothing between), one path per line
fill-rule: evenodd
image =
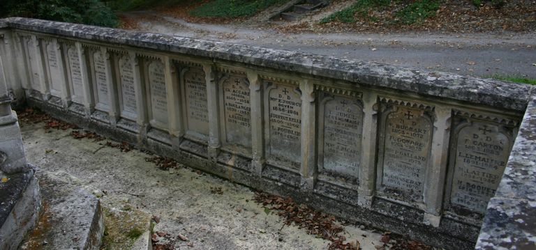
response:
M0 249L17 249L36 224L41 197L34 170L7 175L0 182Z

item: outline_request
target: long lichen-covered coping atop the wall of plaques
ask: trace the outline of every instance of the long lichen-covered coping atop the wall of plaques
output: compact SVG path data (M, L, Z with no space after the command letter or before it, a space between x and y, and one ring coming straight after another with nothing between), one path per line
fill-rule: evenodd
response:
M508 84L493 79L479 79L446 72L428 72L382 63L345 60L332 56L40 19L22 17L0 19L0 28L6 27L80 38L92 42L129 45L142 49L156 49L207 57L213 58L214 61L246 63L273 70L350 81L356 87L389 88L515 111L526 109L529 93L533 88L528 85Z

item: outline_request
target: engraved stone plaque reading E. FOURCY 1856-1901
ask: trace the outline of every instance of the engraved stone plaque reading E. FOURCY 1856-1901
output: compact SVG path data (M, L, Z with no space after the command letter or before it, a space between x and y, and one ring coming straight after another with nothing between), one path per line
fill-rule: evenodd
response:
M269 153L301 162L301 98L295 87L275 84L269 90Z

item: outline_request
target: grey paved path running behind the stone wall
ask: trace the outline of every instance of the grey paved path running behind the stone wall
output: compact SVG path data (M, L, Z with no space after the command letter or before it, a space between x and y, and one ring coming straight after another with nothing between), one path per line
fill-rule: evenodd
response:
M461 75L536 78L536 34L285 34L255 26L193 24L152 12L140 18L140 31L288 49Z

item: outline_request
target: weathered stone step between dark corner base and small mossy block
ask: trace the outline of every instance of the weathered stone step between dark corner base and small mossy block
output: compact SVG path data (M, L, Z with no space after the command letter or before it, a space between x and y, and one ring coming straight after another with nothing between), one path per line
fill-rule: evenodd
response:
M104 221L101 203L72 184L74 178L38 171L43 212L19 249L95 249L101 247Z

